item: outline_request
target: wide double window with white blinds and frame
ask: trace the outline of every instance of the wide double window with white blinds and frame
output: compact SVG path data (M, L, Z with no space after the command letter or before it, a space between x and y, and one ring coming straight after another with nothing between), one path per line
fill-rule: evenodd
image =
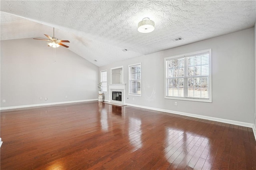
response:
M211 49L165 58L165 98L212 102Z

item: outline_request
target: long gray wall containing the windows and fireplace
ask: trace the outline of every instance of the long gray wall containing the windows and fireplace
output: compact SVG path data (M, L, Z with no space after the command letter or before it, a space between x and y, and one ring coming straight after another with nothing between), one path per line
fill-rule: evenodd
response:
M212 103L164 99L164 57L210 48ZM142 96L128 96L128 65L140 62ZM121 65L124 65L125 102L128 104L253 123L254 28L120 61L99 70L108 70L110 83L110 68ZM106 100L108 97L109 94L105 94ZM174 102L178 102L178 106Z

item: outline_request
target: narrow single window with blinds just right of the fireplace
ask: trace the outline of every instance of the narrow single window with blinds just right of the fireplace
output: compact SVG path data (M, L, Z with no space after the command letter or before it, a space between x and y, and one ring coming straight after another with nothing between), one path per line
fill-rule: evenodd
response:
M129 65L129 95L141 96L141 63Z

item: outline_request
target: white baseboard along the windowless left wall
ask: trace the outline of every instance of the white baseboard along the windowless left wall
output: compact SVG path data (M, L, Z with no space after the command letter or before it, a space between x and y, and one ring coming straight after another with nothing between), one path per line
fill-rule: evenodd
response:
M18 109L18 108L25 108L25 107L47 106L47 105L58 105L58 104L65 104L65 103L77 103L77 102L84 102L84 101L98 101L98 99L87 99L87 100L64 101L64 102L56 102L56 103L42 103L42 104L35 104L35 105L1 107L0 110Z

